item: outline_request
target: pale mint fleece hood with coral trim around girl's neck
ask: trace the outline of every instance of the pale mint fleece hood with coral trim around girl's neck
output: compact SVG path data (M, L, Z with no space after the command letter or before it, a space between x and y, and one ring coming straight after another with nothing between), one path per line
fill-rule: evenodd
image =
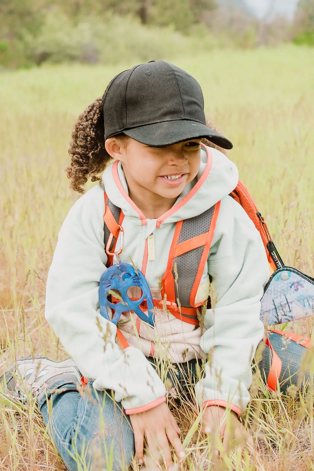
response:
M203 213L229 195L235 189L238 179L236 165L225 154L202 145L201 165L196 178L184 188L173 207L157 219L156 226ZM122 209L125 216L133 217L135 225L147 224L144 214L128 195L121 162L110 164L103 173L102 181L108 198Z

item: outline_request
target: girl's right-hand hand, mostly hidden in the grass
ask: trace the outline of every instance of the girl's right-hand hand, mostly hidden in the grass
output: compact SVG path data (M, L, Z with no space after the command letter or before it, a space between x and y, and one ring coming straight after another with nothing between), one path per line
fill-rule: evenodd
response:
M252 438L249 432L243 427L242 423L238 420L235 412L230 411L230 422L224 417L225 407L209 406L203 412L203 430L206 434L215 434L219 432L223 448L228 454L228 450L236 444L252 445ZM216 451L218 455L218 451Z

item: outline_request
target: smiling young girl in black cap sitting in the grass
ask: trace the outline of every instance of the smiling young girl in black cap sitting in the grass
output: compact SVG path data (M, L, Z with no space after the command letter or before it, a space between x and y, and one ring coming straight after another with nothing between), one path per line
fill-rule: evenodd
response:
M15 395L25 388L36 395L69 470L80 469L78 455L92 465L100 455L95 450L108 469L125 469L133 454L143 463L145 441L156 462L161 452L170 467L171 447L184 460L160 378L165 359L173 365L168 378L174 385L195 383L205 434L219 429L223 443L239 435L250 441L239 417L250 400L251 362L264 336L260 299L269 268L259 232L229 196L238 183L236 166L217 147L232 144L206 126L199 84L163 61L119 73L75 124L71 188L83 193L90 177L99 185L79 198L63 223L46 300L46 319L72 359L24 358L17 372L11 366L15 374L6 374ZM210 226L198 228L204 213ZM116 249L107 244L110 224L119 227ZM188 243L180 238L182 227ZM100 279L120 245L121 262L147 280L153 327L134 312L122 312L118 328L101 315ZM190 254L186 266L169 270L169 260L182 251ZM142 310L148 315L147 306Z

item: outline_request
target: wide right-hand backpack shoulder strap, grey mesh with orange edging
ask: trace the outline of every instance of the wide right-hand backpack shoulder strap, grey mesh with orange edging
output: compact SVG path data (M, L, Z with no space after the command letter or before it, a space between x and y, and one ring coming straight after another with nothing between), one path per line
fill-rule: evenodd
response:
M161 294L172 314L189 324L199 323L195 308L203 303L196 304L195 297L211 248L219 210L220 202L194 218L177 222L174 231L167 268L162 277ZM163 303L156 302L159 305Z

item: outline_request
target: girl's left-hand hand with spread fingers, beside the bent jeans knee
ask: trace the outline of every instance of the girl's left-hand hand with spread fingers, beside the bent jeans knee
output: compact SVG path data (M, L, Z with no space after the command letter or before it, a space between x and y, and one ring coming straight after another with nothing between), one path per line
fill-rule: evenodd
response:
M167 468L173 464L169 442L180 459L185 457L184 448L178 437L181 430L165 402L140 414L131 414L129 417L133 427L136 457L140 464L143 463L144 437L150 455L159 462L161 451Z

